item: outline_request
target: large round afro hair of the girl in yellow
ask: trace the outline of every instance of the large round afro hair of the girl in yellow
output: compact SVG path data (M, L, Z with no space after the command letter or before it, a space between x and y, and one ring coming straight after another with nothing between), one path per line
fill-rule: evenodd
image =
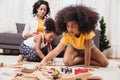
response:
M57 12L55 16L56 28L60 34L67 32L66 24L69 21L76 21L79 31L82 34L94 31L99 14L92 8L83 5L68 6Z

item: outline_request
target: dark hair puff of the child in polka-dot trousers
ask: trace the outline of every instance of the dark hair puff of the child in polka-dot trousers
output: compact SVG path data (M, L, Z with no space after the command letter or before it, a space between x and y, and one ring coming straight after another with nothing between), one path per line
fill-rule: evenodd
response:
M55 21L52 18L46 18L44 26L46 27L45 30L47 33L54 32L58 35L55 27Z

